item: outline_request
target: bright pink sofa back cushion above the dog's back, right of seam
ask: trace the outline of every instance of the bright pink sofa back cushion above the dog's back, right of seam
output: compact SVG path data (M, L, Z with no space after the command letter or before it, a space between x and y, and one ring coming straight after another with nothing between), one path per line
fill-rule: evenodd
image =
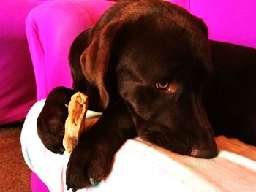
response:
M206 22L210 39L256 48L256 1L190 1L190 12Z

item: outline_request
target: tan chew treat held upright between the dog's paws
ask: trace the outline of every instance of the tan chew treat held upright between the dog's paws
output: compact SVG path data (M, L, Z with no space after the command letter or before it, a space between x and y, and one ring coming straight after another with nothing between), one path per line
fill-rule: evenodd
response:
M86 128L86 112L88 110L88 97L83 93L75 93L68 105L69 115L65 122L63 146L67 153L71 153L78 144L80 134Z

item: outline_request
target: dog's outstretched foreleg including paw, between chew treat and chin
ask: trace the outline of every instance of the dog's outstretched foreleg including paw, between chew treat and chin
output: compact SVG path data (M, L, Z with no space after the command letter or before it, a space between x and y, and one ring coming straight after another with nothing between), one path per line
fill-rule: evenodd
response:
M105 179L116 152L127 139L135 136L129 111L123 101L119 101L80 137L67 165L67 188L76 191Z

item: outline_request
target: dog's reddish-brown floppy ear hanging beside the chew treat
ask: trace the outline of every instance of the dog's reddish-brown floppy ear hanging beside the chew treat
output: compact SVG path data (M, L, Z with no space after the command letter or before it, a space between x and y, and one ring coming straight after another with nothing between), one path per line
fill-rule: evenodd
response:
M113 42L122 22L108 23L103 28L96 28L89 47L80 56L80 64L86 80L98 88L99 108L105 110L110 102L108 90L108 67Z

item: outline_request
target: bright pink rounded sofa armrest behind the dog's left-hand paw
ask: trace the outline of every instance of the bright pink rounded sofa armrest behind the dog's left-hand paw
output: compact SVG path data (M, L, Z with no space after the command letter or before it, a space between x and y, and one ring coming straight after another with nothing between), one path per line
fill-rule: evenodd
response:
M110 1L51 1L31 10L26 18L26 34L38 100L56 86L71 88L69 47L111 4Z

